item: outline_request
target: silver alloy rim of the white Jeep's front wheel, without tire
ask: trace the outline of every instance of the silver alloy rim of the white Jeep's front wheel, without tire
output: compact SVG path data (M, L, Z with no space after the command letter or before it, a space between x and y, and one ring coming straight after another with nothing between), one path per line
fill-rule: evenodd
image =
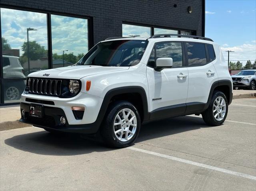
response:
M137 119L135 113L128 108L118 112L114 120L114 134L118 140L126 142L136 133Z

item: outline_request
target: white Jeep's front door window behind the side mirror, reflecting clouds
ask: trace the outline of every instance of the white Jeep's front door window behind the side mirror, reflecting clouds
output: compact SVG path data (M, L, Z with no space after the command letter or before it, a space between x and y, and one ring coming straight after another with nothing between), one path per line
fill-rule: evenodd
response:
M172 58L172 68L182 67L182 45L180 42L165 42L156 44L156 59Z

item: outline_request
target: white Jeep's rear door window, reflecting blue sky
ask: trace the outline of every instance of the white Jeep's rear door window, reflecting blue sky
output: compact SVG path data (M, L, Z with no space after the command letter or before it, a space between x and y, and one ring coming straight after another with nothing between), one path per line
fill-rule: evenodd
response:
M206 64L206 51L202 43L186 43L188 49L188 65L200 66Z

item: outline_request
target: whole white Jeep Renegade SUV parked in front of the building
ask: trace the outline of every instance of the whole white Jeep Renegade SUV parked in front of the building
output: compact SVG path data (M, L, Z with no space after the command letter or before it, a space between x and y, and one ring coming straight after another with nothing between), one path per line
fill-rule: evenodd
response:
M132 144L152 120L202 114L221 125L233 87L220 46L173 36L108 38L73 66L31 73L20 121L49 132L100 132L112 147Z

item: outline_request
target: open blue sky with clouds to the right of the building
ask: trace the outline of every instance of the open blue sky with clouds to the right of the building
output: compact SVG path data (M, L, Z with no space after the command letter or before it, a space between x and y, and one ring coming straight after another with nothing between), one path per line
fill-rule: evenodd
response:
M231 60L256 59L256 0L206 0L205 36ZM242 61L244 64L246 61Z

